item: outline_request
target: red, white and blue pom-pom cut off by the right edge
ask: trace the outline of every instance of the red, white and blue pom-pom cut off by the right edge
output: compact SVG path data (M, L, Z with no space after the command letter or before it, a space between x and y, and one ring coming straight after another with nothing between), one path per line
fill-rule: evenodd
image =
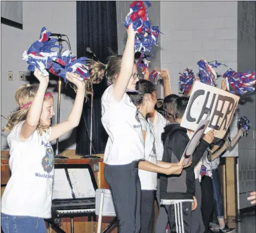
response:
M230 93L243 95L246 93L253 93L255 91L255 72L236 72L233 69L228 69L223 78L227 80L227 88ZM233 90L230 90L230 87Z

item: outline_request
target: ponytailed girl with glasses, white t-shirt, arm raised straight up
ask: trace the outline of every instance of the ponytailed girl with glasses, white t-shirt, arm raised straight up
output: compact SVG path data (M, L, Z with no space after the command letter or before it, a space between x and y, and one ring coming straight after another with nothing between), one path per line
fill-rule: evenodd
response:
M144 161L141 122L136 106L126 94L127 89L135 90L138 81L134 52L136 33L132 24L127 34L123 56L110 56L106 65L93 61L88 64L92 80L106 76L111 84L102 95L102 124L109 136L104 152L104 174L111 189L120 233L140 232L141 183L138 167L164 174L182 168L178 164L163 168Z

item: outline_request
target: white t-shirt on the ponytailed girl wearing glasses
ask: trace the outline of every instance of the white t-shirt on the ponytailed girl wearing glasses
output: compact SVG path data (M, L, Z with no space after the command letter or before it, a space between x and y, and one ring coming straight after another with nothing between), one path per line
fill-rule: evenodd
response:
M102 124L108 133L104 163L123 165L144 159L144 142L138 110L130 97L124 93L116 101L110 85L102 95Z

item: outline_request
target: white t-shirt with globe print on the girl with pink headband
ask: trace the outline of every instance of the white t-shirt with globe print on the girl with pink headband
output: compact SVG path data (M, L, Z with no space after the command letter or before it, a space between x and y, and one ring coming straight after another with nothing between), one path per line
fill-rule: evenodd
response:
M10 147L11 177L2 195L1 211L5 214L51 217L51 193L54 154L49 133L35 132L26 142L20 141L25 121L15 125L7 137Z

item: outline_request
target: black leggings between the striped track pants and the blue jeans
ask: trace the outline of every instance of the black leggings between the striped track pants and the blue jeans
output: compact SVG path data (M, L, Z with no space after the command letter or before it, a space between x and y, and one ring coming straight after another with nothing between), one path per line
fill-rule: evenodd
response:
M202 189L202 217L205 225L205 233L208 233L211 222L212 211L214 211L214 188L212 186L212 178L203 176L201 180Z

